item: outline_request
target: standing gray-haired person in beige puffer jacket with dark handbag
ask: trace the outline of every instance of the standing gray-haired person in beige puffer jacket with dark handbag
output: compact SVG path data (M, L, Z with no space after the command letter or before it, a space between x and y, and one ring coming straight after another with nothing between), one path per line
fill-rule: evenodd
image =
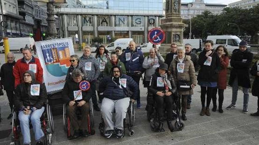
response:
M187 98L193 94L193 88L197 85L197 80L191 57L185 54L185 48L177 48L177 57L172 60L168 70L172 72L178 92L181 95L182 120L187 120L185 115L187 111ZM185 86L181 82L188 83Z

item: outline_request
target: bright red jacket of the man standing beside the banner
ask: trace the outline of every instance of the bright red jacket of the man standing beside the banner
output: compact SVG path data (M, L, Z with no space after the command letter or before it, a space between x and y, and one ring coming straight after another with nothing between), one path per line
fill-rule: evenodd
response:
M36 78L35 79L38 83L42 83L43 69L39 62L39 59L32 56L31 61L27 64L23 57L22 59L17 60L16 64L14 65L13 74L14 74L14 78L15 78L15 81L14 81L15 88L17 85L24 82L23 73L25 71L29 70L30 64L36 64L36 73L35 73Z

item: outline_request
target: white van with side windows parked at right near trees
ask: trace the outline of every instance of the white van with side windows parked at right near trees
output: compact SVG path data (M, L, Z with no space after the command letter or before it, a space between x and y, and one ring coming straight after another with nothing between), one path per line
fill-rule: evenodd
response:
M238 49L241 39L234 35L211 35L207 37L207 40L212 40L214 48L219 45L224 45L228 52L232 53L233 50Z

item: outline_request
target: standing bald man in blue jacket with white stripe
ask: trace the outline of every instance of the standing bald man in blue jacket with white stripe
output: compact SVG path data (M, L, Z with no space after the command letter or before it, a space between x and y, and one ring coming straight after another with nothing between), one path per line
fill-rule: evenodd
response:
M125 64L127 75L131 76L137 83L137 108L141 108L140 103L140 78L142 76L143 53L137 49L134 41L129 42L129 48L122 54L122 62Z

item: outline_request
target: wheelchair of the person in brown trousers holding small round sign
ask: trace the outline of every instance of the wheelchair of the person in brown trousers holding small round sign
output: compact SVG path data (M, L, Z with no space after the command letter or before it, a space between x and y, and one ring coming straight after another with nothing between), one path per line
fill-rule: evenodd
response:
M63 104L63 124L64 124L64 130L67 132L67 138L69 139L71 137L71 125L70 125L70 119L66 114L67 110L67 104ZM80 120L81 115L77 116ZM93 112L93 103L92 99L89 100L89 113L87 115L87 124L88 124L88 133L89 135L94 135L95 130L94 130L94 112Z

